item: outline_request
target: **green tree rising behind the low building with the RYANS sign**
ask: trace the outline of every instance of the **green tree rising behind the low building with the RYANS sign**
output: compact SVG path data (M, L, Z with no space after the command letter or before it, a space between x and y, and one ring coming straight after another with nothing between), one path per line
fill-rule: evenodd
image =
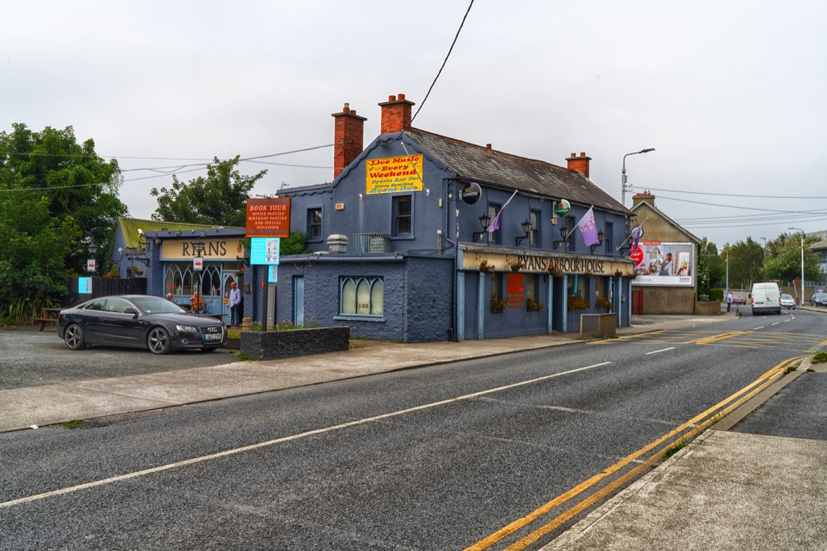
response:
M207 167L206 178L181 183L173 175L171 188L152 188L150 194L158 202L152 220L245 226L248 194L267 171L242 176L237 170L239 162L238 156L226 161L216 157Z

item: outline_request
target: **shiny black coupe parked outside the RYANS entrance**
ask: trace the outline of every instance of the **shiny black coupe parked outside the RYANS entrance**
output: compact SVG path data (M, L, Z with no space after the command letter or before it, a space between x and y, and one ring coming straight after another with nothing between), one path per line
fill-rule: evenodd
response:
M57 334L72 350L88 344L147 348L153 354L173 349L214 350L227 342L227 326L198 316L162 297L100 297L60 311Z

